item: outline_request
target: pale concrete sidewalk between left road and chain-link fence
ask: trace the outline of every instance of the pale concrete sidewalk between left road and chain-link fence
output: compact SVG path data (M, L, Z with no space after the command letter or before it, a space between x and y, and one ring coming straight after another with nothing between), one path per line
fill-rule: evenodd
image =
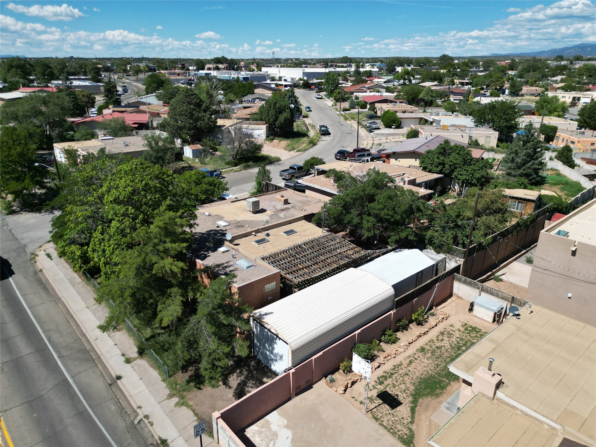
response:
M42 269L110 373L114 377L117 374L122 376L117 384L132 407L137 409L138 419L153 423L148 423L148 426L156 440L158 437L167 439L172 447L198 446L199 439L194 439L193 432L193 426L198 421L193 412L184 406L176 406L178 398L168 398L166 384L145 359L138 358L135 344L128 333L114 331L107 334L97 328L104 321L107 308L95 302L94 291L58 257L53 244L47 244L39 250L37 266ZM126 364L125 356L131 358L132 362ZM203 435L204 446L212 442L210 437Z

